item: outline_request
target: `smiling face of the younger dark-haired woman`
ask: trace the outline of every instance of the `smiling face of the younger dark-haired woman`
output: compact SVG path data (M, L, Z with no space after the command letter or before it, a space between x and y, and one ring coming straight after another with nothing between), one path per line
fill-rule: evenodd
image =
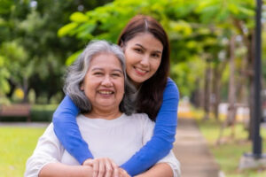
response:
M163 45L150 33L139 33L122 46L127 73L136 87L153 76L160 66Z

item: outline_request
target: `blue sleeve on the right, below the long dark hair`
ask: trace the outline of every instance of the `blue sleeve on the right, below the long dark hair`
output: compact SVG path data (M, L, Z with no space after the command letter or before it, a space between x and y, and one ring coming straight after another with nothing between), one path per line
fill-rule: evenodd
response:
M178 102L179 93L176 84L168 78L152 139L121 165L130 175L145 172L172 150L176 135Z

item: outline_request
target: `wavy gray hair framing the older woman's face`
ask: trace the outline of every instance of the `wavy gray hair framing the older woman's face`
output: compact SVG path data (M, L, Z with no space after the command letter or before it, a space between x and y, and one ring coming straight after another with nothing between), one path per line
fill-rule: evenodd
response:
M86 73L90 67L90 61L92 58L102 53L113 54L119 59L122 67L122 71L125 78L125 94L119 105L121 112L131 114L134 112L135 104L132 93L135 92L135 88L129 83L126 74L125 57L121 48L106 41L92 41L82 51L82 54L77 58L72 65L67 68L66 79L64 85L64 92L70 96L74 104L81 110L81 112L90 112L91 104L87 96L81 90L81 84L85 78Z

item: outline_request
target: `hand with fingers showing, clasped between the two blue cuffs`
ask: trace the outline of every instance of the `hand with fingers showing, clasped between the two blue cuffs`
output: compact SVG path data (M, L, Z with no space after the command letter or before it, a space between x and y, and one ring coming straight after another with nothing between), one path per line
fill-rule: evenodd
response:
M88 158L82 165L90 165L93 168L93 177L127 177L110 158Z

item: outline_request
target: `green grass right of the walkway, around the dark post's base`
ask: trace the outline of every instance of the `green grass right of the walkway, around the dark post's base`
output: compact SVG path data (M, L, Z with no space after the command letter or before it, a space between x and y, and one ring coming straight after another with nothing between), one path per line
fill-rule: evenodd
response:
M223 132L223 143L217 145L215 142L219 135L220 125L214 120L198 120L201 133L207 139L209 148L215 157L216 162L220 165L221 170L226 177L265 177L266 171L245 170L239 172L239 160L246 152L252 151L252 143L247 141L247 132L242 124L235 127L235 136L231 137L231 128L225 128ZM266 137L266 130L262 128L262 137ZM266 152L266 139L263 141L263 152Z

